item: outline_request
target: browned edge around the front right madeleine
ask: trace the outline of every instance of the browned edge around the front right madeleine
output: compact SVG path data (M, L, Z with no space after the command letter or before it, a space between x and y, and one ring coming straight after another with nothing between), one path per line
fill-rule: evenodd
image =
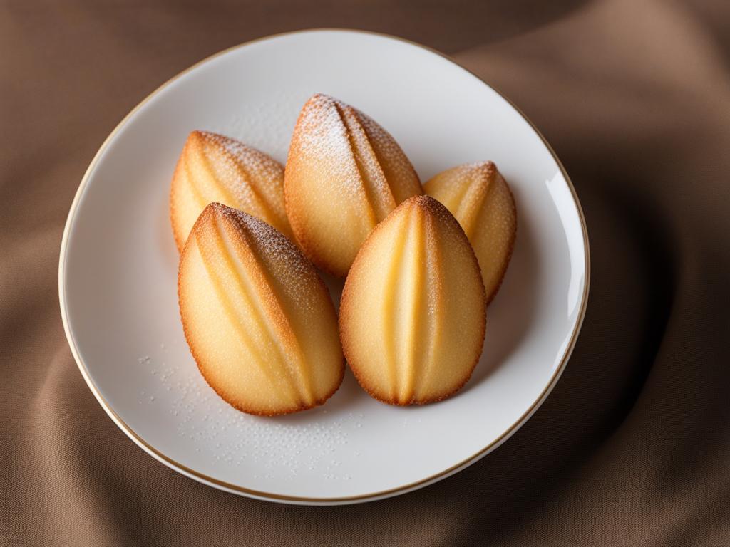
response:
M482 280L482 271L479 267L479 261L477 260L477 256L475 255L474 249L472 248L472 244L469 242L469 238L466 237L466 233L464 233L464 228L461 228L461 225L458 223L458 220L456 220L456 217L451 214L451 212L436 198L431 198L430 195L423 194L423 195L414 195L411 198L408 198L407 200L403 201L399 206L397 206L393 211L391 211L390 214L388 214L388 217L385 217L382 222L380 222L373 230L370 232L370 235L366 238L364 244L362 244L362 247L360 247L360 250L358 251L358 254L355 257L355 260L353 260L353 265L350 267L350 272L352 272L355 269L356 264L361 259L361 255L364 253L364 249L366 249L369 246L370 239L375 236L375 233L379 230L383 230L383 226L386 225L386 222L389 222L389 219L392 216L395 216L396 211L401 209L401 207L407 207L412 205L412 201L423 201L426 200L427 206L434 206L433 203L429 203L429 201L433 201L438 208L443 209L445 212L447 212L447 215L445 215L445 218L447 218L447 222L452 222L456 228L458 228L458 232L461 233L462 236L464 236L464 241L466 241L467 247L469 250L471 250L471 256L472 256L472 262L475 265L475 270L477 273L478 278L478 285L481 287L482 292L482 300L484 302L484 313L482 314L482 334L481 334L481 344L479 346L479 351L477 351L476 357L474 359L474 362L469 367L468 372L464 375L464 381L461 382L461 384L458 384L456 388L451 390L450 392L447 392L443 395L439 395L437 397L430 397L426 400L410 400L406 403L399 403L398 401L394 400L388 400L385 397L380 397L380 395L375 394L372 392L365 384L363 379L361 379L361 376L358 373L358 367L357 365L353 365L353 362L350 360L350 358L347 356L349 353L349 347L347 345L347 327L345 326L345 317L350 315L349 306L347 306L347 301L349 300L347 298L347 293L350 289L350 274L347 275L347 279L345 279L345 287L342 288L342 298L339 300L339 320L338 320L338 326L339 326L339 341L342 345L342 353L345 354L345 361L347 362L347 365L350 367L350 371L353 372L353 376L355 376L355 379L358 381L358 384L360 384L360 387L371 397L373 397L375 400L379 400L381 403L388 403L389 405L394 406L411 406L411 405L425 405L429 403L437 403L441 400L445 400L449 397L452 397L456 394L456 392L460 391L464 385L466 385L466 382L469 381L469 379L472 378L472 374L474 373L475 368L477 367L477 363L479 362L480 358L482 357L483 351L484 351L484 338L486 334L486 322L487 322L487 303L486 303L486 293L484 290L484 282Z

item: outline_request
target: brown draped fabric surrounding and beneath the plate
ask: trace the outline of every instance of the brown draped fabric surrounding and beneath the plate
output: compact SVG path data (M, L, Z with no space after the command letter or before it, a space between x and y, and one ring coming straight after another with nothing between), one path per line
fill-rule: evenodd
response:
M0 1L4 546L730 544L726 1ZM456 55L542 129L583 202L591 299L544 406L493 454L391 500L303 508L134 446L66 345L57 265L101 141L206 55L312 26Z

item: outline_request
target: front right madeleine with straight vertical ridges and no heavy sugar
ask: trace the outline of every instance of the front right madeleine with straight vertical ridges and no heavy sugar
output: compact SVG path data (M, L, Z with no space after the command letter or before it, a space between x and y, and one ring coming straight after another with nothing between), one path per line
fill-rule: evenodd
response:
M342 292L339 336L370 395L430 403L472 375L485 320L484 286L464 230L423 195L401 203L358 252Z

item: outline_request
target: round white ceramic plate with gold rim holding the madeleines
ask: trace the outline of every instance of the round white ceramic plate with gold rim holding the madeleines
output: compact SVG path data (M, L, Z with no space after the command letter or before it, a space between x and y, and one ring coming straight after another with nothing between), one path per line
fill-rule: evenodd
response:
M320 408L247 416L212 392L188 352L168 220L169 182L185 138L193 129L217 131L283 162L299 109L315 92L374 117L422 181L489 159L512 187L514 256L488 310L483 357L456 397L387 406L348 371ZM309 504L407 492L499 446L563 371L589 271L575 190L531 123L444 56L353 31L296 32L234 47L145 99L91 162L69 212L59 269L74 357L135 443L205 484Z

